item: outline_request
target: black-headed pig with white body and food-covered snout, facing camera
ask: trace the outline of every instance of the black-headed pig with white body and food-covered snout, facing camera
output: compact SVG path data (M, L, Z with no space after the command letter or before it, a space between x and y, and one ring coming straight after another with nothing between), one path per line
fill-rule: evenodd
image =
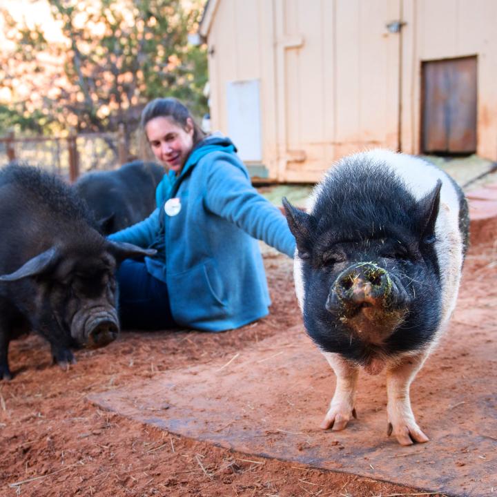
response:
M388 434L426 442L409 387L456 305L468 240L461 189L424 160L376 149L341 159L309 213L284 208L297 241L304 325L337 378L322 429L355 417L360 367L387 372Z

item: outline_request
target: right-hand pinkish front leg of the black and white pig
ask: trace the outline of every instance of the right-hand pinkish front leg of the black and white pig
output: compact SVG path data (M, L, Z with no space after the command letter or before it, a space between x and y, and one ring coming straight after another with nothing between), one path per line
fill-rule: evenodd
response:
M404 358L399 364L387 369L388 435L393 433L400 445L412 445L413 442L422 443L429 440L416 423L409 398L411 382L427 355L423 352Z

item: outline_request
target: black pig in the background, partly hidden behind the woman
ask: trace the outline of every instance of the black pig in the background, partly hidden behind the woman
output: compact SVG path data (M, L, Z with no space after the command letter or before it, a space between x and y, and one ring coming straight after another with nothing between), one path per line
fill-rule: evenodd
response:
M164 168L135 161L110 171L81 176L74 184L97 220L101 233L110 235L144 220L155 209L155 188Z

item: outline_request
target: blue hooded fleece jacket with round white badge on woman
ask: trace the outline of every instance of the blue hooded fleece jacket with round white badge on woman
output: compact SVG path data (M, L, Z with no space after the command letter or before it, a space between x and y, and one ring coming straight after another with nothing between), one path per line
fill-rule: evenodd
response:
M255 239L293 257L295 238L280 210L251 185L231 140L200 142L178 177L164 176L156 201L150 217L109 238L159 248L146 266L166 283L175 322L224 331L267 315L271 300ZM159 233L164 244L157 244Z

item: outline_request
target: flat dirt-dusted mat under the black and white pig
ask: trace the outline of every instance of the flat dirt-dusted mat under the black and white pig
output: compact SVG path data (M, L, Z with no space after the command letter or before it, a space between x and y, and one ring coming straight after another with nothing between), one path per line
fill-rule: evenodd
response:
M302 327L211 364L159 374L90 397L97 405L180 436L454 496L497 491L497 360L488 314L467 306L411 387L430 441L387 438L384 373L361 373L344 431L321 431L333 371Z

